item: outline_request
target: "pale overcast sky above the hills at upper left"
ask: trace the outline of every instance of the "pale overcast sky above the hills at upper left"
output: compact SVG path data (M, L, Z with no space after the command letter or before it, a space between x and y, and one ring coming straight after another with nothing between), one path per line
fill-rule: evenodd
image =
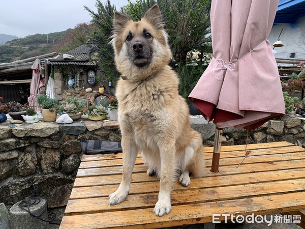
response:
M92 17L84 9L96 11L96 0L4 0L0 3L0 34L25 37L74 28ZM106 0L101 0L105 3ZM119 11L127 0L110 0ZM134 1L133 1L134 2Z

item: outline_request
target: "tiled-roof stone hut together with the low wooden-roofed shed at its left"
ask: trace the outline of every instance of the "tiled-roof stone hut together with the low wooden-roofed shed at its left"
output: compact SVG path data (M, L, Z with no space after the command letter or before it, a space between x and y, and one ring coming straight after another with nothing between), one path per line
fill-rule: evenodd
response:
M99 69L98 64L89 61L89 47L84 44L66 53L52 52L12 63L0 64L0 96L4 97L2 102L27 103L33 74L31 67L36 58L40 59L45 89L52 71L62 69L63 74L56 74L57 77L54 78L55 98L59 101L65 100L67 97L77 97L87 101L88 96L96 95L99 85L95 80L96 76L100 76L102 84L105 85L106 94L114 95L115 93L115 82L111 82L112 87L109 87L109 81L103 77L103 72ZM88 76L89 72L90 77ZM71 87L68 84L69 77L74 82ZM11 94L15 96L6 95L6 92L14 92Z

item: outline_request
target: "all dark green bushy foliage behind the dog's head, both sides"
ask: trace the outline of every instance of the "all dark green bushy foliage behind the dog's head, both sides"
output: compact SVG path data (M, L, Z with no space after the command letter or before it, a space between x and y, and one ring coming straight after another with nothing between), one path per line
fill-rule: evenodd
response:
M169 46L173 53L170 65L180 75L182 84L180 94L186 98L191 92L194 82L197 82L201 76L201 71L206 68L204 53L211 52L210 0L137 0L135 3L128 0L128 5L121 8L121 13L137 21L156 3L163 15L169 36ZM109 44L109 37L112 33L115 6L111 6L110 0L105 5L97 0L96 7L97 13L85 7L92 14L92 22L96 27L91 36L93 42L91 51L97 53L97 60L105 74L112 75L116 70L114 51ZM200 61L195 67L187 65L188 55L192 56L192 50L200 51ZM190 75L190 73L192 74ZM192 84L189 83L190 81Z

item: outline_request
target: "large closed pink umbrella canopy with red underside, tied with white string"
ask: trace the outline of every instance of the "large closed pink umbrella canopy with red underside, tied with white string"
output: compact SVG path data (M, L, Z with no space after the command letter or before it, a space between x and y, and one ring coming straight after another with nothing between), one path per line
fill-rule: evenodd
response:
M218 128L254 129L285 115L275 56L267 37L279 0L212 0L214 58L189 98Z

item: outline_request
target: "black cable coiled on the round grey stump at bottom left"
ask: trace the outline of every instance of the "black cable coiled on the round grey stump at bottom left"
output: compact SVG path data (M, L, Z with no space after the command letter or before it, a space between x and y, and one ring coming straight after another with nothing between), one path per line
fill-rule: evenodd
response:
M45 211L47 210L47 206L48 206L48 201L47 199L42 196L42 195L38 195L36 194L36 189L34 187L34 185L31 186L31 195L25 195L25 198L19 203L19 208L23 209L24 211L28 212L31 216L35 217L35 218L38 218L42 221L45 221L45 222L49 222L51 224L60 224L60 223L55 223L55 222L52 222L56 219L56 214L55 213L51 213L51 214L48 214L48 218L51 218L51 220L45 220L45 219L42 219L41 216L45 213ZM46 207L44 209L44 211L40 214L40 215L35 215L31 212L31 210L29 210L29 207L30 206L34 206L34 205L38 205L40 202L41 202L41 199L44 199L45 202L46 202Z

